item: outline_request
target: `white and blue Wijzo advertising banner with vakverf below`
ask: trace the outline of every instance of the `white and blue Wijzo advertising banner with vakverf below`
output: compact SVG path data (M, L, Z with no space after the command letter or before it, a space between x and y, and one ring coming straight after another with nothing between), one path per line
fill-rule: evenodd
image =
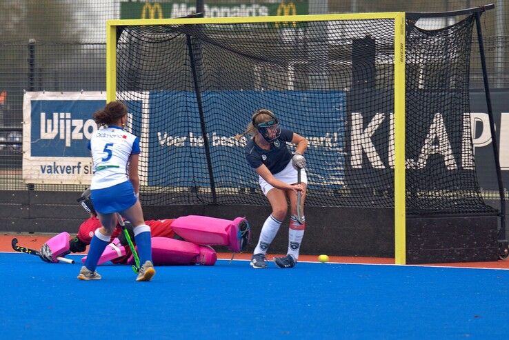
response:
M105 92L26 92L23 181L88 185L92 179L88 141L97 130L92 114L105 104ZM141 101L126 104L128 108L142 105ZM140 129L132 127L135 133Z

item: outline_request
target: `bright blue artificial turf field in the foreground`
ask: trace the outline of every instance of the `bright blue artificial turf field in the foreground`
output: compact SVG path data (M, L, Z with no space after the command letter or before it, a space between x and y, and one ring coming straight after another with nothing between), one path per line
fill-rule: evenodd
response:
M79 260L80 257L74 256ZM495 339L509 324L509 270L248 261L128 266L79 281L81 261L0 253L2 339Z

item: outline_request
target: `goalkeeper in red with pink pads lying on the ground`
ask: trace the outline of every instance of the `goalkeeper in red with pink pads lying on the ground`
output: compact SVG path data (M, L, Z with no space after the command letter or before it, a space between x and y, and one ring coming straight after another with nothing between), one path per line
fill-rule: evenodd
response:
M68 232L61 232L49 239L41 247L41 259L57 263L57 257L64 257L70 252L83 252L90 244L94 232L101 228L94 205L90 199L90 190L79 197L78 202L90 214L79 226L76 237ZM132 234L132 224L124 221ZM152 236L152 260L154 266L174 266L201 264L213 266L217 254L211 246L225 246L232 252L241 252L249 243L250 226L243 217L230 221L214 217L190 215L177 219L156 219L145 221L150 226ZM81 261L86 262L87 257ZM110 237L110 243L103 250L98 264L107 261L112 263L132 263L132 252L121 227L117 225Z

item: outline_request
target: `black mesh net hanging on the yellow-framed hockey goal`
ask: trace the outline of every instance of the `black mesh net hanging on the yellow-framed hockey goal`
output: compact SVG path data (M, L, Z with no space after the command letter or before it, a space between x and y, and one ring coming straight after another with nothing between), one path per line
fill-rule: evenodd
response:
M406 206L492 213L469 117L473 17L406 26ZM117 99L141 141L143 203L266 204L244 157L253 112L306 137L308 206L394 207L395 22L123 26ZM289 146L292 148L292 146Z

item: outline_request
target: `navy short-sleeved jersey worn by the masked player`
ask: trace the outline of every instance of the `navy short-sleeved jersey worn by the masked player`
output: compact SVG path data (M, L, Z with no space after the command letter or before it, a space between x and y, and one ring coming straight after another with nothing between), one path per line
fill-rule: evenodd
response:
M265 164L272 174L277 174L292 159L292 154L286 147L286 142L292 141L292 138L292 131L281 128L279 137L270 143L270 150L260 148L254 139L249 139L246 145L246 159L249 165L256 169Z

